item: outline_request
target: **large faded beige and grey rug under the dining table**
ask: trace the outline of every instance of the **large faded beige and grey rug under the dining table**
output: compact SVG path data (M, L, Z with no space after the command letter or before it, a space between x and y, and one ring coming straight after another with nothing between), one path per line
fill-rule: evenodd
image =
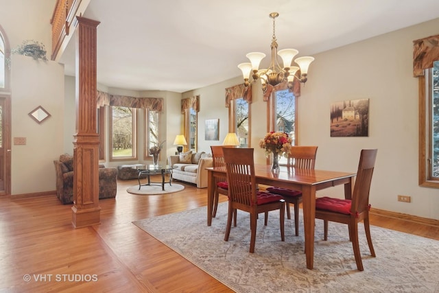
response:
M330 222L325 242L322 221L316 220L314 269L308 270L302 220L300 236L294 236L294 220L285 218L281 242L278 212L269 213L268 226L261 215L255 251L248 253L248 214L238 211L237 227L225 242L226 214L222 203L212 226L206 224L206 207L133 223L235 292L439 292L436 240L371 226L377 257L370 257L360 223L364 271L359 272L347 226Z

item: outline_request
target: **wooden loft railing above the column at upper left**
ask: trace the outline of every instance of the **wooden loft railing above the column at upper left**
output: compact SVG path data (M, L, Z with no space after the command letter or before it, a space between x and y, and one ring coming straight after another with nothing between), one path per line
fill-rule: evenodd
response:
M87 1L85 1L87 2ZM89 1L88 1L89 2ZM61 48L69 41L70 32L74 30L75 15L79 12L82 0L57 0L52 19L52 51L51 60L56 60ZM72 27L73 25L73 27ZM71 30L73 28L73 30Z

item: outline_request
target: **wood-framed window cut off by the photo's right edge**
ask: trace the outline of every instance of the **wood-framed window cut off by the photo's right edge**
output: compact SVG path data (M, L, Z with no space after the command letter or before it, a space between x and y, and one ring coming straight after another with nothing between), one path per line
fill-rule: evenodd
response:
M439 188L439 60L420 78L419 185Z

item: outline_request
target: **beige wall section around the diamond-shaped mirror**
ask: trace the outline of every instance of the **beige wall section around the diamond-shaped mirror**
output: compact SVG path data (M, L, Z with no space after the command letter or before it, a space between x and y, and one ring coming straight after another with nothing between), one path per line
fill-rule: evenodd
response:
M55 190L54 159L62 154L64 133L64 68L54 61L12 56L11 194ZM51 115L38 124L28 113L42 106Z

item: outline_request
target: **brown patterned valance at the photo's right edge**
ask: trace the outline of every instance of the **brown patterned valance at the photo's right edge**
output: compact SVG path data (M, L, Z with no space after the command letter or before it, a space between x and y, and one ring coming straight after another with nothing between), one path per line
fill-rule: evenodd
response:
M433 67L439 60L439 35L420 38L413 41L413 75L424 75L424 69Z

